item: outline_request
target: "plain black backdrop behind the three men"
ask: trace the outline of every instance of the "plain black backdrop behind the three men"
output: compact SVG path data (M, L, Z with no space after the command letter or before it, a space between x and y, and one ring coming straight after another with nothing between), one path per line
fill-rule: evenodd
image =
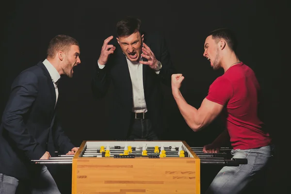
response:
M72 79L59 84L58 113L64 130L72 142L108 140L105 130L112 88L101 100L92 96L90 81L103 40L115 36L116 21L127 15L138 16L147 32L164 34L173 63L185 76L182 95L198 108L212 81L223 74L213 71L203 57L203 44L208 32L227 27L237 33L238 56L258 76L263 91L262 119L280 147L283 128L278 126L280 114L280 79L283 53L280 37L286 17L283 1L271 4L263 0L210 1L15 1L2 7L1 31L1 101L5 107L12 81L25 68L46 58L49 40L57 34L76 38L81 47L81 64ZM164 139L186 140L190 146L210 143L223 129L216 120L201 132L193 132L181 117L171 90L163 87L165 117L169 133ZM281 159L283 156L281 155ZM280 182L280 154L270 185ZM269 188L278 189L276 186ZM270 190L271 189L271 190Z

